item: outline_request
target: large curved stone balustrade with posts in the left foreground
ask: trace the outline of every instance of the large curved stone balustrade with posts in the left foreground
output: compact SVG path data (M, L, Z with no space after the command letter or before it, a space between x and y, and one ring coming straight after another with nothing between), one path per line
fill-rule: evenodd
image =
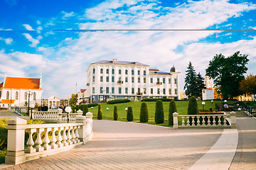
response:
M26 125L22 118L6 121L6 164L20 164L85 144L92 137L92 113L78 115L75 123ZM28 141L25 143L25 135Z

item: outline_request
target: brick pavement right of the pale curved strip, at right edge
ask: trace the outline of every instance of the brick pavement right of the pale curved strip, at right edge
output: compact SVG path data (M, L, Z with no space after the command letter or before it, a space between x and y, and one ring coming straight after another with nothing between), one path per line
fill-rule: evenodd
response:
M256 119L237 113L238 149L230 166L234 169L256 169Z

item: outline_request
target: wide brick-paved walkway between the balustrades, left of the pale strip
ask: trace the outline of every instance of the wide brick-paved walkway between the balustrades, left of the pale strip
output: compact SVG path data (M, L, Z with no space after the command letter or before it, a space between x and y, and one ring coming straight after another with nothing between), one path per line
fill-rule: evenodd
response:
M6 169L188 169L223 132L107 120L94 120L93 130L81 147Z

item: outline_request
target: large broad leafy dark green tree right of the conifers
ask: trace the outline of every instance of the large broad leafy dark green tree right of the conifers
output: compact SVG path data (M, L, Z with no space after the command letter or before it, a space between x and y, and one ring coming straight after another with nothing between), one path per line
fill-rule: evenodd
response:
M215 86L220 86L223 98L233 98L241 94L239 84L245 79L243 74L247 71L245 67L249 61L247 56L238 51L230 57L220 54L210 60L206 74L214 79Z

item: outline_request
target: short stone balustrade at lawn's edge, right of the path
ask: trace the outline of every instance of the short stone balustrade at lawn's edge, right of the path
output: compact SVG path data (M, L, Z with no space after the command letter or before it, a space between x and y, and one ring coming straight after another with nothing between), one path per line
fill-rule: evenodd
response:
M235 112L230 114L174 115L174 129L178 128L235 128ZM178 125L178 119L181 125Z

